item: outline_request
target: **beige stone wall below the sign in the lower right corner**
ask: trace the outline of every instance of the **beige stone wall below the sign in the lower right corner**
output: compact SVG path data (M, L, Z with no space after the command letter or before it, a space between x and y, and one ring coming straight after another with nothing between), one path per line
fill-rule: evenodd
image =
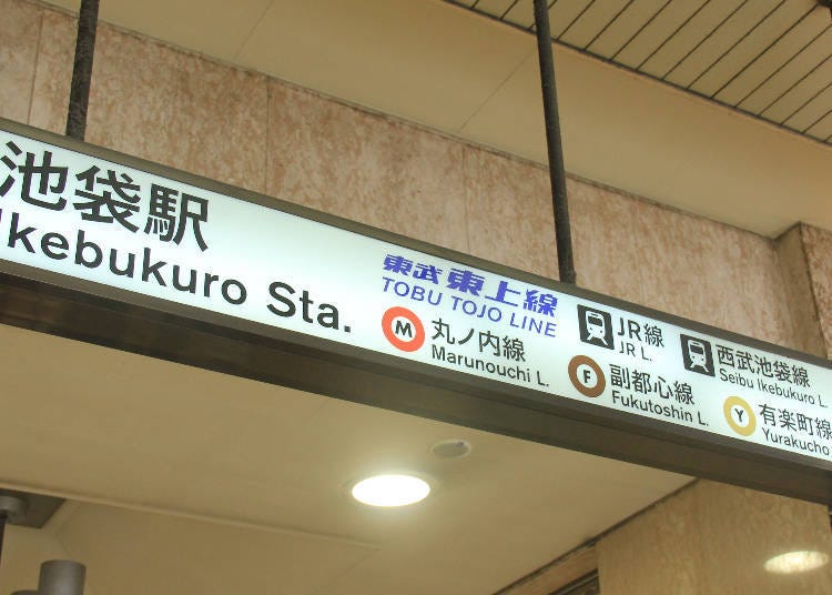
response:
M700 481L649 508L598 544L605 595L821 595L829 566L765 572L772 556L814 549L832 556L825 506Z

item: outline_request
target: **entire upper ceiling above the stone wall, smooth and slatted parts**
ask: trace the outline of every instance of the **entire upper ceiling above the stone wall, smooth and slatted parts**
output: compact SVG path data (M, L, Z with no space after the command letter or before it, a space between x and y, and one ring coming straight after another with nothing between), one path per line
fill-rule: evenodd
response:
M555 2L568 171L768 236L832 229L832 16L813 3ZM546 160L530 0L101 4L120 27Z

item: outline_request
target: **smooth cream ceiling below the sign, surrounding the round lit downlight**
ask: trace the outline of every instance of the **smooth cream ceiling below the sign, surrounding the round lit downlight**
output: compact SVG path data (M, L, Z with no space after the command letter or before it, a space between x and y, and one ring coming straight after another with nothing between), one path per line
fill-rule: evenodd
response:
M88 565L89 595L493 593L689 481L31 331L0 342L2 484L71 501L11 527L0 593L53 556ZM474 450L429 452L447 438ZM389 468L438 490L404 510L347 497Z

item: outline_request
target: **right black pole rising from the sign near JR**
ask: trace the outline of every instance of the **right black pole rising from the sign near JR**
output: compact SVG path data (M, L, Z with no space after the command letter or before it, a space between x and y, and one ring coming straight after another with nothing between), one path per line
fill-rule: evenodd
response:
M547 0L535 0L535 29L537 30L537 54L540 62L540 87L544 93L546 148L549 154L549 181L551 183L551 199L555 208L558 274L560 281L564 283L575 284L572 233L569 226L569 205L566 199L564 148L560 143L558 93L555 88L555 59L551 54L551 32L549 31L549 6Z

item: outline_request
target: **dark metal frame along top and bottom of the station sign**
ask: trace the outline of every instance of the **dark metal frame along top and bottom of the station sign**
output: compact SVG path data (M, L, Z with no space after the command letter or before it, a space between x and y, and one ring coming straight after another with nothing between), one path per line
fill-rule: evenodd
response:
M809 354L0 119L0 128L261 206L832 369ZM0 205L1 206L1 205ZM832 461L728 438L0 261L0 322L552 446L832 505ZM557 470L554 470L557 473Z

